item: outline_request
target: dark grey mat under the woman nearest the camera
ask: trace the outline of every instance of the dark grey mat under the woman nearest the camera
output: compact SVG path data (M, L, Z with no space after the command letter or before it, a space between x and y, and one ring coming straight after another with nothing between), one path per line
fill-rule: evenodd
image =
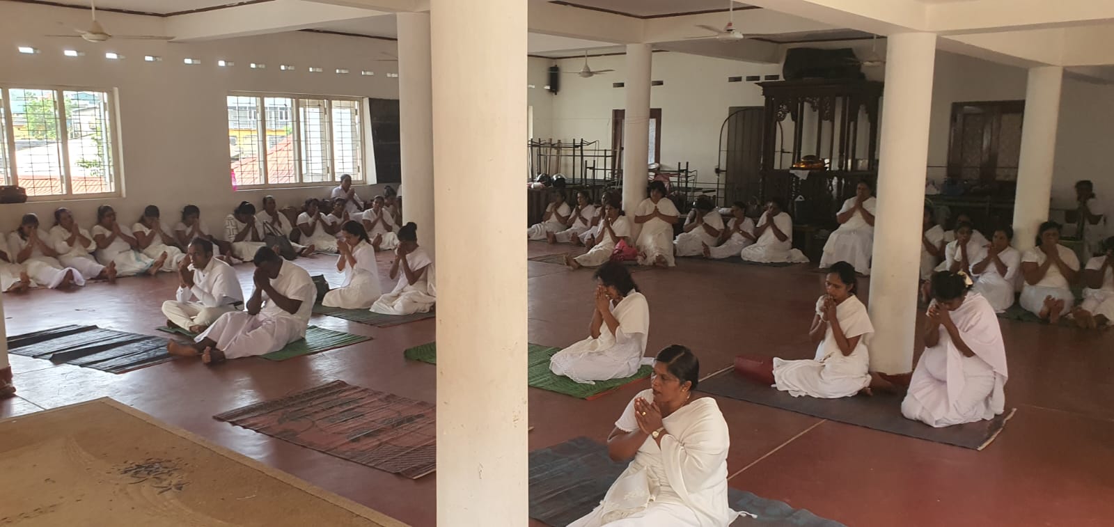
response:
M530 517L553 527L565 527L592 513L627 463L613 462L607 446L576 438L530 452ZM729 489L731 508L751 516L732 527L843 527L782 501Z

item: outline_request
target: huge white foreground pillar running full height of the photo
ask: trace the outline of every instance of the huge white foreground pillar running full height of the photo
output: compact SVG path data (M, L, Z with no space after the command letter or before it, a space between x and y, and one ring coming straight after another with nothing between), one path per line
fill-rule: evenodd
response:
M522 526L529 499L521 233L527 2L430 3L439 79L438 525Z

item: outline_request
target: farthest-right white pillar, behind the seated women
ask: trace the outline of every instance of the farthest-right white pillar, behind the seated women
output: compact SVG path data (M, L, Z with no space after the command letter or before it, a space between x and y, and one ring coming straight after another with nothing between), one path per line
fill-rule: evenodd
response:
M1029 69L1022 157L1017 166L1017 196L1014 198L1014 246L1018 251L1033 248L1040 222L1048 219L1063 85L1064 68L1059 66Z

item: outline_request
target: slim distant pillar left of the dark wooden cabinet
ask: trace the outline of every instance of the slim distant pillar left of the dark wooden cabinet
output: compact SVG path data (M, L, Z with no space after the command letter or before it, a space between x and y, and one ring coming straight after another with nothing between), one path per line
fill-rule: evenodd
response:
M649 68L653 52L648 43L628 43L626 55L626 111L623 117L623 208L646 198L649 176Z

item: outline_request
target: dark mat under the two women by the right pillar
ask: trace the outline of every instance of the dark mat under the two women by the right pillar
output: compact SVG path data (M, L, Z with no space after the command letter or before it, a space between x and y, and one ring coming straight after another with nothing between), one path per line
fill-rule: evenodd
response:
M854 396L842 399L793 397L789 392L742 377L734 370L701 381L700 391L974 450L983 450L990 445L1015 411L1007 409L1003 414L988 421L932 428L920 421L906 419L901 414L901 400L905 397L901 394L876 393L873 397Z

